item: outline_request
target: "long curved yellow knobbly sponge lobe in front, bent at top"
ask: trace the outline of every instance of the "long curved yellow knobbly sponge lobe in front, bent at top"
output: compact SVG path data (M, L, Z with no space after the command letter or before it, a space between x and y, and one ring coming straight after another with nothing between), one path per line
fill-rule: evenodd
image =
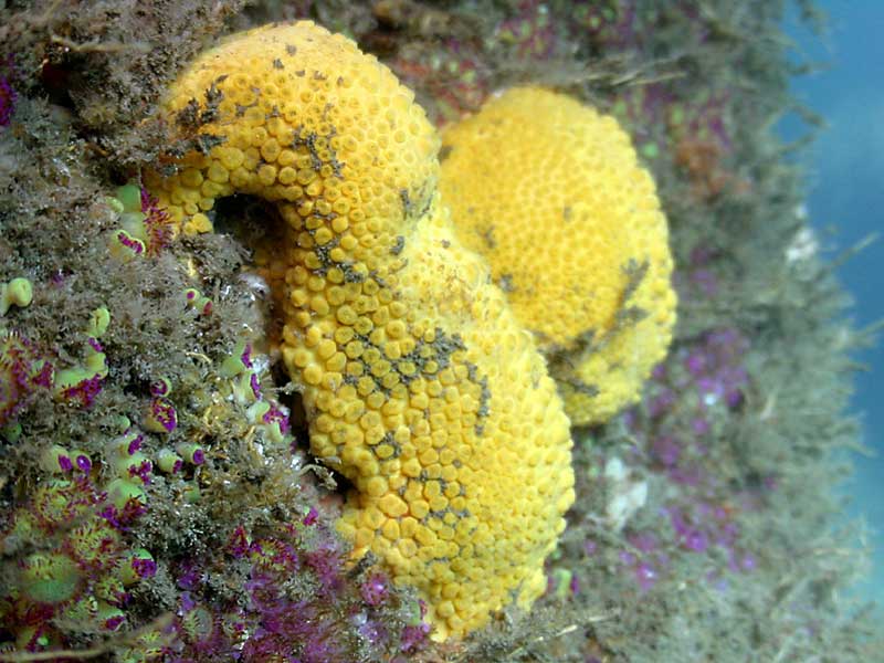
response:
M568 420L484 261L454 236L439 139L349 40L299 22L233 35L166 105L207 146L147 176L185 232L219 197L276 203L264 269L313 453L352 482L339 520L418 588L434 636L528 607L573 502Z

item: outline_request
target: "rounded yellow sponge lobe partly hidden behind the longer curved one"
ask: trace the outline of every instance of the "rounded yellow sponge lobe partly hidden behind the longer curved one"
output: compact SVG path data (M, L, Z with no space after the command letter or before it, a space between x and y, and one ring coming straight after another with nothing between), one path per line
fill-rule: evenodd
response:
M638 400L675 323L666 220L612 117L509 90L443 134L440 190L537 336L576 424Z

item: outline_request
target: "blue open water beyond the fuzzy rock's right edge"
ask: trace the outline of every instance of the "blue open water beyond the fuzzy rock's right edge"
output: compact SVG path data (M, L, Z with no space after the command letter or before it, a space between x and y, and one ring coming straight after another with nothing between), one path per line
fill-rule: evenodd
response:
M810 59L828 69L792 83L793 94L821 114L828 127L800 159L808 167L808 212L824 248L843 250L871 233L882 238L839 271L856 301L856 326L884 317L884 2L819 2L830 19L822 38L801 27L796 15L787 33L796 41L792 60ZM779 128L787 139L807 130L797 117ZM835 234L831 229L835 228ZM831 252L830 252L831 253ZM844 486L849 517L863 517L874 549L872 576L860 583L861 598L884 603L884 347L855 354L870 370L856 376L854 411L863 414L863 442L875 457L852 454L855 477ZM884 612L884 611L882 611Z

